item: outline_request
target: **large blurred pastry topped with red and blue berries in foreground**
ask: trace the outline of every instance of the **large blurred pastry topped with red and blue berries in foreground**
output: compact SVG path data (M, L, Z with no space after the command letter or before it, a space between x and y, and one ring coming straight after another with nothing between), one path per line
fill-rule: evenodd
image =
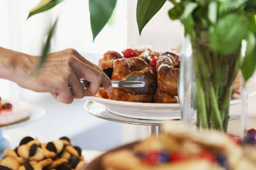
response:
M102 158L106 170L135 169L256 169L255 129L241 142L236 136L198 130L180 123L166 124L167 134L109 152Z

